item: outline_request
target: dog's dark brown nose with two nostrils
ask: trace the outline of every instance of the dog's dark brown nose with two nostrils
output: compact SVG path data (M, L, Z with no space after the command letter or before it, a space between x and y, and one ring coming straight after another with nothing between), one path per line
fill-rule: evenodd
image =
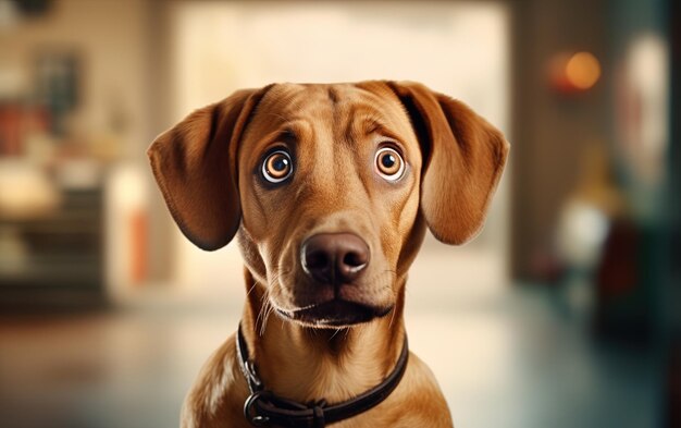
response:
M302 243L300 259L315 281L342 284L356 280L369 265L369 246L352 233L319 233Z

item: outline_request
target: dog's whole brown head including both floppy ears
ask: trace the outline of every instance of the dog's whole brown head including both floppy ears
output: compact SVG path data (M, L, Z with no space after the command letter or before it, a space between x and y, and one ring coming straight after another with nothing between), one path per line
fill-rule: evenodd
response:
M394 307L423 240L481 229L503 135L414 83L270 85L197 110L151 145L173 218L203 249L235 234L269 303L340 327Z

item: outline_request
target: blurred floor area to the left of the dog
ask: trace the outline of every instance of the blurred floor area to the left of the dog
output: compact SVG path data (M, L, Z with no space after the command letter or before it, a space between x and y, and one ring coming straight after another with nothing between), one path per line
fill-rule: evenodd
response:
M141 296L107 313L3 317L0 426L177 426L191 380L239 314L228 302L199 307L181 297Z

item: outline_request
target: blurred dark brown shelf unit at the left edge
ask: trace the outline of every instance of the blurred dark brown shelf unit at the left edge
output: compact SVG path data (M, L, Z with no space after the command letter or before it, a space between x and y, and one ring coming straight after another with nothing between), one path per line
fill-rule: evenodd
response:
M1 306L104 301L101 188L64 191L54 212L0 218L0 230L9 231L9 246L16 248L0 252Z

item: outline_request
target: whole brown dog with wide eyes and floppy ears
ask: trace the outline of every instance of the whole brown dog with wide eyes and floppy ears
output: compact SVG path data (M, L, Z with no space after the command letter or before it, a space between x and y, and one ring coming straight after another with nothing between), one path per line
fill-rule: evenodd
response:
M203 249L236 235L248 291L243 350L232 337L212 355L182 425L324 426L327 406L397 372L425 229L448 244L475 235L507 151L467 106L394 82L240 90L159 136L149 156L173 218ZM334 426L450 427L430 369L412 354L405 367L387 398ZM267 416L272 394L312 416Z

